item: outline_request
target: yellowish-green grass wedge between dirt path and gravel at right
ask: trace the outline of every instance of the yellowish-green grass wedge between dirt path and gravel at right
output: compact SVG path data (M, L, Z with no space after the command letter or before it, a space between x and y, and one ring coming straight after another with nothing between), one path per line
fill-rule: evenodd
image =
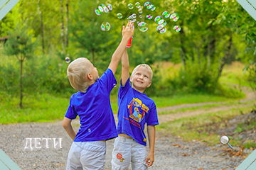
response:
M220 111L217 113L207 113L203 115L196 115L192 117L181 118L171 121L169 123L161 123L156 126L156 130L165 130L171 132L173 135L181 136L184 140L199 140L201 142L207 142L209 145L216 145L219 143L220 135L212 132L215 129L223 128L223 124L220 122L228 120L240 115L240 112L250 113L255 106L247 106L244 108L232 108L228 111ZM218 127L214 125L220 123ZM210 130L210 128L213 128ZM230 137L233 145L242 145L240 139ZM248 144L249 145L249 144ZM251 145L250 145L251 146Z

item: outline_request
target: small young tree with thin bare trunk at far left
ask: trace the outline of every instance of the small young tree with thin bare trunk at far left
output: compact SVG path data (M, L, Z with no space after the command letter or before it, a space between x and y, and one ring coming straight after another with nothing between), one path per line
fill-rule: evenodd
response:
M33 56L36 42L32 42L32 35L28 35L28 30L24 26L17 26L13 32L9 32L9 40L4 46L4 53L9 56L15 56L20 62L20 103L22 108L22 72L23 62Z

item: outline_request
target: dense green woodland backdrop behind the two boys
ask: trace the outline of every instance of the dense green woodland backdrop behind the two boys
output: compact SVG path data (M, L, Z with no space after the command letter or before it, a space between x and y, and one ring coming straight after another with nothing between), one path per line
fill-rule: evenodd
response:
M127 23L127 17L136 12L130 10L127 4L137 1L20 1L6 17L0 21L0 37L7 36L17 24L26 26L26 34L38 42L34 57L28 60L24 67L27 76L23 82L26 89L50 94L73 93L65 77L68 66L65 57L75 60L77 57L88 57L95 63L100 74L107 68L114 49L121 40L122 25ZM139 1L143 6L145 1ZM134 33L132 48L129 49L130 65L146 62L157 65L162 61L182 63L183 67L175 77L163 79L157 67L154 69L155 91L166 91L169 94L176 91L220 94L218 92L219 78L225 64L234 60L249 63L256 60L256 21L233 0L203 1L203 0L167 0L151 1L156 6L155 11L144 8L142 19L149 29L142 33L137 28ZM112 4L110 13L95 14L95 8L100 4ZM177 22L166 18L167 32L156 33L157 24L145 18L146 14L161 16L163 11L178 13ZM117 13L122 13L121 19ZM163 17L164 18L164 17ZM103 22L109 22L110 31L100 30ZM173 30L175 25L181 26L181 31ZM137 27L137 24L135 24ZM10 39L11 41L11 39ZM6 45L7 47L7 45ZM4 58L3 46L0 47L0 57ZM11 58L4 59L0 64L1 91L14 93L17 90L11 77L16 77L18 63ZM13 72L10 74L10 71ZM7 76L8 75L8 76ZM29 76L33 75L33 76ZM118 76L118 74L117 74ZM7 78L8 77L8 78ZM172 90L167 90L172 89ZM31 92L32 91L32 92ZM217 91L217 93L216 93ZM166 95L168 94L166 92ZM28 93L28 91L23 91ZM160 94L159 94L160 95Z

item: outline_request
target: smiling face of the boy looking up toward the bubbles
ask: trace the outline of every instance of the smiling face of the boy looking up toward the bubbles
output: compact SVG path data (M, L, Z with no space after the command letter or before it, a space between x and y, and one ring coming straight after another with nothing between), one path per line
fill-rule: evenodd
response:
M151 85L150 73L146 67L139 67L131 76L132 88L143 93Z

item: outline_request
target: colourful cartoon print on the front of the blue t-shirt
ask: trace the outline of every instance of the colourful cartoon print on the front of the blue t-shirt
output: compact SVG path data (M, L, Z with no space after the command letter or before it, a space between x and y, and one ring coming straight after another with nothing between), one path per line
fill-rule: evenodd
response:
M145 108L148 108L148 107L146 107L142 103L142 101L139 100L139 98L133 98L128 105L128 109L130 113L129 118L132 118L133 120L140 123L144 118L145 111L146 112L148 111Z

